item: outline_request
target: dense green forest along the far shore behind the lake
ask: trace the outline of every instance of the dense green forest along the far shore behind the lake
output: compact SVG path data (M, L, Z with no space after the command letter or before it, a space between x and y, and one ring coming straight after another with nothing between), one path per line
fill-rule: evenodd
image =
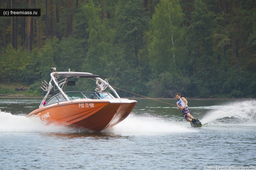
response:
M3 0L0 8L41 9L0 17L1 83L42 95L56 67L148 97L256 98L255 0Z

